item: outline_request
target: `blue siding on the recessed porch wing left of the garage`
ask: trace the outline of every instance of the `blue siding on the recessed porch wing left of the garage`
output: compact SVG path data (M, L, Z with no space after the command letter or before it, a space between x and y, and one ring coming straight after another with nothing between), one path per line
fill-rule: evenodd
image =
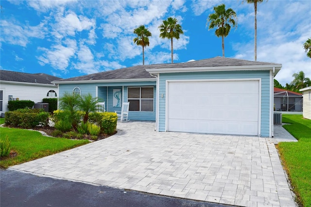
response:
M154 86L154 111L152 112L139 112L139 111L129 111L130 120L137 121L155 121L155 111L156 111L156 82L146 81L146 82L119 82L119 83L91 83L91 84L60 84L59 85L59 97L61 97L65 92L72 92L73 88L79 87L81 89L81 94L91 93L92 96L96 96L96 86L98 86L98 98L101 102L105 102L106 111L121 111L121 107L113 107L113 89L119 88L123 89L121 97L122 102L127 102L127 87L128 86ZM108 90L108 97L107 97Z

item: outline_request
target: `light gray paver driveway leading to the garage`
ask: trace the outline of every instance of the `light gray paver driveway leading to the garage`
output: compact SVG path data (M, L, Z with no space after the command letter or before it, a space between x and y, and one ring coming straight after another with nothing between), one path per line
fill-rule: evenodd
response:
M11 169L222 204L296 206L270 138L154 129L118 122L114 136Z

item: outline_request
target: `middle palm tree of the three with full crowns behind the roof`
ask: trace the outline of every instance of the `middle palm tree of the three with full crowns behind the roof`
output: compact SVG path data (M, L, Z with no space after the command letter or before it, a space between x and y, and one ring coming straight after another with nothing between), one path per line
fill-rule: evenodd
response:
M180 24L177 24L177 19L168 17L167 20L163 20L163 23L159 26L160 37L171 39L171 56L173 63L173 38L179 39L179 35L184 34Z

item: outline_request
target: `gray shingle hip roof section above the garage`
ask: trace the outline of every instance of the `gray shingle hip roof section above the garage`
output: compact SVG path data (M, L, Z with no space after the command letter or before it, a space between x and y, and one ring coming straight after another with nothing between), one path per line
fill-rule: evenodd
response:
M179 63L159 68L198 68L198 67L225 67L225 66L258 66L271 65L275 63L266 63L258 61L241 60L227 57L213 57L203 60Z

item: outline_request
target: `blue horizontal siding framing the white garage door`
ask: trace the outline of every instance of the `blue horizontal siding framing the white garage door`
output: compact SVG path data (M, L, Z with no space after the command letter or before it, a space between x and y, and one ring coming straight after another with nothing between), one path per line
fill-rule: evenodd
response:
M159 131L165 131L165 93L166 80L198 80L198 79L242 79L261 78L261 125L260 135L269 137L270 111L270 72L262 71L214 71L214 72L185 72L162 73L159 82ZM163 94L163 98L161 98Z

